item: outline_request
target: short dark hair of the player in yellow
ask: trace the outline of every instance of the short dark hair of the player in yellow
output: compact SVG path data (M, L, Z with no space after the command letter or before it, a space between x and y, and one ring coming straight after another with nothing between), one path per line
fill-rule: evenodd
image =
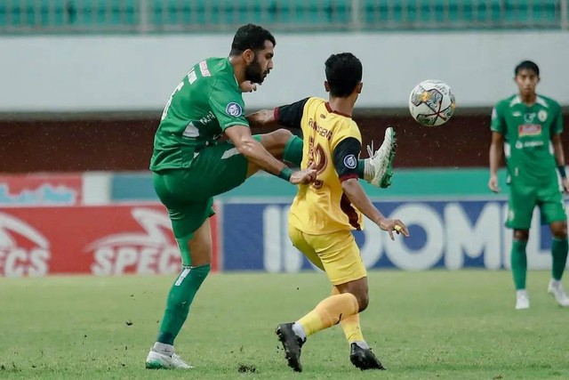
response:
M332 54L325 67L332 96L346 98L362 81L362 62L352 53Z

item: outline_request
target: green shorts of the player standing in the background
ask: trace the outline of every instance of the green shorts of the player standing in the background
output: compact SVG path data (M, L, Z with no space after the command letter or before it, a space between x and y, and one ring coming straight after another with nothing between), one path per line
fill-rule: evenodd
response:
M529 230L535 206L540 207L541 224L566 222L565 204L557 181L551 181L546 186L516 182L510 186L506 227Z

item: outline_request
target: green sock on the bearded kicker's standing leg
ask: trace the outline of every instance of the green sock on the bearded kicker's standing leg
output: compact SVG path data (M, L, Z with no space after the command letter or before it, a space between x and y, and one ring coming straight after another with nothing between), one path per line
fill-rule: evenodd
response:
M194 300L197 289L202 285L209 271L209 264L183 268L170 289L156 342L173 345L174 339L188 318L189 306Z

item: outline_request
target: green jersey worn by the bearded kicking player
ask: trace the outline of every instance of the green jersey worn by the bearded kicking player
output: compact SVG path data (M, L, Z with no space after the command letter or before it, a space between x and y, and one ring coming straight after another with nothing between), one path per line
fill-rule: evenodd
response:
M228 58L210 58L189 70L166 103L154 138L150 170L185 168L231 125L249 125Z

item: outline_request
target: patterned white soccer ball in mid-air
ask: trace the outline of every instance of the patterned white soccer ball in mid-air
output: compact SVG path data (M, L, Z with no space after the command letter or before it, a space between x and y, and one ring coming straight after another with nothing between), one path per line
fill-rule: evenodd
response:
M416 85L409 96L411 116L422 125L443 125L454 113L451 87L440 80L426 80Z

